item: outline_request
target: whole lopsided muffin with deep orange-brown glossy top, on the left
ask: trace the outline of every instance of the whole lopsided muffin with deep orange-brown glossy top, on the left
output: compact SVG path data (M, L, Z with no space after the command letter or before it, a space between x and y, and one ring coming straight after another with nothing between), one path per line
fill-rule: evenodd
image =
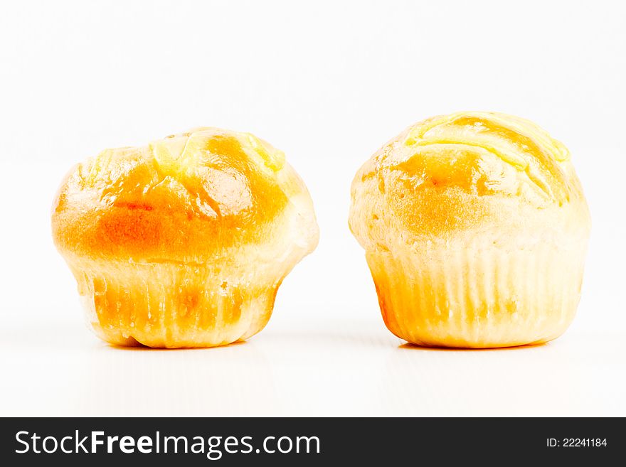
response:
M284 154L217 128L78 164L56 196L52 230L97 336L166 348L258 333L319 237Z

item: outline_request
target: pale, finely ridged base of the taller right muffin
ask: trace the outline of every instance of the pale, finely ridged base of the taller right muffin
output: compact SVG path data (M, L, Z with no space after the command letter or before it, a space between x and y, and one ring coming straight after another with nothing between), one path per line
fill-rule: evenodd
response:
M466 238L368 252L383 320L410 343L496 348L561 336L580 299L586 242L519 249Z

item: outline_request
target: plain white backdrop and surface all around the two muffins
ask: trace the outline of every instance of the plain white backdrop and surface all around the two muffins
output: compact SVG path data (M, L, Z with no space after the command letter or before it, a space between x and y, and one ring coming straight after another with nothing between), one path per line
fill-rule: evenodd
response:
M626 415L621 1L46 1L0 15L0 415ZM355 171L461 109L561 139L593 234L578 316L535 348L428 350L383 326L347 227ZM196 126L285 151L322 232L265 331L122 350L83 325L50 208L73 163Z

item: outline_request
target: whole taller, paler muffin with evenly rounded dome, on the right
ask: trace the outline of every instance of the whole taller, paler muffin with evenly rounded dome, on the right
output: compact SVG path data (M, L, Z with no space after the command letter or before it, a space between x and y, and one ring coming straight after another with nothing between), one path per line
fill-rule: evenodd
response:
M356 173L349 225L386 326L410 343L543 343L574 317L589 210L566 147L526 119L406 129Z

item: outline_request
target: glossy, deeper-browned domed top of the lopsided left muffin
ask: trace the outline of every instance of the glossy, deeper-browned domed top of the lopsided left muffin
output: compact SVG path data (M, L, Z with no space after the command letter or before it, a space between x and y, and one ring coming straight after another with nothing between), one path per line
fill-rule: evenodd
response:
M78 255L201 262L270 236L290 192L306 190L294 177L267 142L217 128L107 149L65 178L53 237Z

